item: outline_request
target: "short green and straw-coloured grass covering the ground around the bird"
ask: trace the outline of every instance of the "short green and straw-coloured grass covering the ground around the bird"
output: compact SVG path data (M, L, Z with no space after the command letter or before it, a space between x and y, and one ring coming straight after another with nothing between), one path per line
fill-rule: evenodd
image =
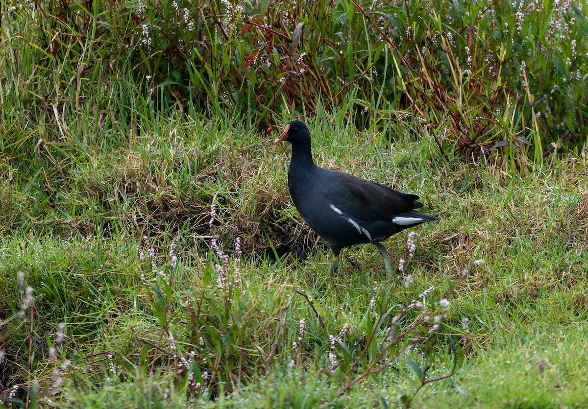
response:
M349 124L333 125L326 113L309 123L320 165L417 192L427 213L440 218L414 229L417 250L397 276L386 275L373 246L348 250L352 263L344 259L330 276L332 254L288 197L289 147L264 143L239 125L161 120L145 123L151 132L128 145L104 144L82 129L76 138L87 145L71 138L46 147L48 157L63 163L51 175L55 168L43 160L4 162L2 400L16 384L16 407L27 396L44 407L62 407L65 399L84 407L151 401L183 407L188 392L198 404L218 407L586 404L586 163L570 156L520 176L509 160L446 163L431 138L415 142L402 129L389 141L379 132L357 135ZM214 232L230 263L235 237L243 240L241 284L229 295L217 287L217 261L208 250L212 202ZM149 262L141 267L136 246L143 234L167 279L151 280ZM308 257L287 257L295 240ZM406 240L405 232L386 242L393 260L407 257ZM167 255L172 241L175 269ZM274 249L286 253L278 262ZM484 263L472 266L475 260ZM26 307L23 319L19 273L34 291L34 310ZM234 278L235 269L228 274ZM416 323L415 330L385 350L393 314L430 286L435 290L423 299L428 313L439 311L435 303L443 297L450 300L442 326L428 334L432 322L411 310L397 330ZM383 326L374 327L390 308ZM306 328L297 340L300 319ZM61 323L65 337L56 343ZM332 350L329 335L344 324L349 330ZM190 385L190 371L168 355L174 350L167 331L176 354L195 351L191 368L201 387ZM373 345L361 358L369 334ZM358 342L346 351L344 345ZM330 351L338 361L333 373ZM377 351L394 368L364 377L379 368ZM349 372L356 358L359 366ZM423 379L440 377L462 358L455 376L413 396L420 384L415 370L430 367ZM54 370L66 360L55 393ZM216 378L206 383L202 373L211 368Z

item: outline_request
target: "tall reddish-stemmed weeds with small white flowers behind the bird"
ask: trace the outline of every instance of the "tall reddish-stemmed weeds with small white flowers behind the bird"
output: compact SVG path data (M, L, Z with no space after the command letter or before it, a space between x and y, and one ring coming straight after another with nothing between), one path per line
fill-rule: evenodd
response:
M95 93L101 98L86 109L124 114L135 105L119 93L126 87L159 109L245 115L264 131L283 117L337 107L360 113L360 128L383 129L391 119L430 133L447 159L455 148L486 155L532 143L530 159L539 162L551 142L576 153L586 143L584 6L3 2L5 55L14 60L2 64L4 98L24 98L30 119L51 117L60 133L59 115L79 112ZM18 112L5 118L11 140L26 133ZM134 115L101 114L129 128Z

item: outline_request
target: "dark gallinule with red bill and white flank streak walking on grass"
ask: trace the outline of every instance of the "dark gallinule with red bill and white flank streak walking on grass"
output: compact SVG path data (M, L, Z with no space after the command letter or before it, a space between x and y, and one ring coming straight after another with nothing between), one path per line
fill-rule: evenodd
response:
M285 126L276 143L284 140L292 143L290 196L305 222L329 243L335 255L331 273L339 268L341 249L362 243L375 244L386 271L392 273L386 247L380 241L437 220L414 210L423 206L416 202L419 196L316 166L310 151L310 132L302 121L293 120Z

